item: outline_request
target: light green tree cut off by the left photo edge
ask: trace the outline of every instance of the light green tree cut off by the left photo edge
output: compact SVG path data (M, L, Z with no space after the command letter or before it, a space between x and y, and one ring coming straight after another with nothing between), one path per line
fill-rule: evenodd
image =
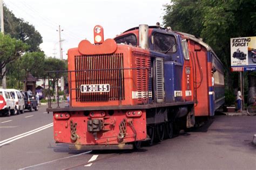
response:
M0 33L0 79L3 79L6 72L2 72L2 69L9 63L14 62L22 53L28 48L28 45L23 43L21 40L11 38L9 35L3 35Z

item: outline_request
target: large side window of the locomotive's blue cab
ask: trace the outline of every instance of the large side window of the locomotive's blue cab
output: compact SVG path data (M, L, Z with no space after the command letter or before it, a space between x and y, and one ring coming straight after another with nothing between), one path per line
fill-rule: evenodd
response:
M177 51L175 37L163 33L156 33L153 38L154 51L161 53L173 53Z

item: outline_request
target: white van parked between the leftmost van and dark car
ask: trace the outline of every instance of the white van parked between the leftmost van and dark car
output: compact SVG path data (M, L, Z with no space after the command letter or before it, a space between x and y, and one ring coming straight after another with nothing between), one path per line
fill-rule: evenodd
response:
M12 94L12 96L14 97L14 100L16 103L17 114L24 113L25 103L24 103L24 97L23 97L22 93L16 89L6 89L6 91L9 91Z

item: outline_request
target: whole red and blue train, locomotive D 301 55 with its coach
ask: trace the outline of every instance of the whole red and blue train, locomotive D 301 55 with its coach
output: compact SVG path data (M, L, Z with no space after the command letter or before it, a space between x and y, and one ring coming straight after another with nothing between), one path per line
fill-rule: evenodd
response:
M52 108L53 136L84 149L152 145L224 104L224 69L202 39L139 25L68 51L69 106ZM52 73L51 73L52 74Z

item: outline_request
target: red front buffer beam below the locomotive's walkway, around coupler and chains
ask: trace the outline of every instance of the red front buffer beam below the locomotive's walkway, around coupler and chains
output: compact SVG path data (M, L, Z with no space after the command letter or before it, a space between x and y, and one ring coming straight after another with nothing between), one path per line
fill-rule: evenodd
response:
M105 124L104 129L97 133L97 140L92 133L87 131L87 121L93 119L84 115L84 112L71 112L68 120L55 119L53 117L53 135L58 142L73 143L70 139L70 121L77 123L76 134L78 135L75 144L80 145L111 145L133 142L135 140L143 140L146 138L146 112L142 110L140 117L127 117L126 111L114 111L113 115L108 113L101 119ZM126 119L126 134L123 140L119 140L119 125L123 119ZM132 123L133 128L129 124Z

